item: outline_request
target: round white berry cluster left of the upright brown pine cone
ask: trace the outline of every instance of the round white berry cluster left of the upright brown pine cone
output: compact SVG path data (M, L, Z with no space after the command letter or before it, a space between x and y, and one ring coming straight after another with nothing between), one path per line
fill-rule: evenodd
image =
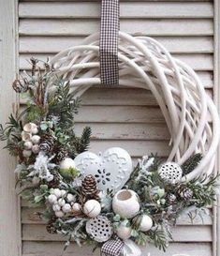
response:
M66 190L60 188L51 188L51 194L48 202L51 203L52 210L58 218L64 217L73 211L76 205L76 196L67 193Z

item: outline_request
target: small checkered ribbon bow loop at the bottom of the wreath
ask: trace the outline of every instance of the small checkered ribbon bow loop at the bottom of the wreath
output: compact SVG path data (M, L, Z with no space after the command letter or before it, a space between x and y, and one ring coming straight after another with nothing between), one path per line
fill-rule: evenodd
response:
M124 248L124 242L118 237L110 239L101 248L101 252L106 256L120 256L122 249Z

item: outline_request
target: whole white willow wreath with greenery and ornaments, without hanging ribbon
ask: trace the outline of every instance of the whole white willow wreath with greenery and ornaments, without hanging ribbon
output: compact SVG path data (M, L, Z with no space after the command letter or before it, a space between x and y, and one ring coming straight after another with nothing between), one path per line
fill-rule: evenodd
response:
M74 118L81 95L100 83L98 44L95 34L51 63L32 58L31 74L13 83L27 106L0 125L0 140L18 158L22 198L42 207L47 231L66 235L66 246L94 244L108 256L140 256L137 245L148 243L166 250L177 219L215 200L218 113L191 68L154 39L120 32L120 84L152 91L173 147L167 161L152 154L135 167L120 147L88 151L91 128L79 137Z

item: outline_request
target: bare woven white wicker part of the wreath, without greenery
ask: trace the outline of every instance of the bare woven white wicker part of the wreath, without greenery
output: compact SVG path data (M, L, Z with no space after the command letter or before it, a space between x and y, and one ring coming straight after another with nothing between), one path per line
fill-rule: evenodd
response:
M99 34L51 59L58 76L67 79L76 97L100 84ZM165 117L172 149L168 160L182 164L193 153L203 155L189 180L212 173L219 142L219 117L198 75L153 38L119 32L120 84L150 89Z

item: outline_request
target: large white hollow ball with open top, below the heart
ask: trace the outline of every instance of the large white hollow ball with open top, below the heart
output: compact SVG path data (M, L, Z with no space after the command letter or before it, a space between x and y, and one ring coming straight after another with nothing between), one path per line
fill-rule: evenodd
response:
M113 197L112 208L122 218L133 218L139 212L139 196L131 189L119 190Z

